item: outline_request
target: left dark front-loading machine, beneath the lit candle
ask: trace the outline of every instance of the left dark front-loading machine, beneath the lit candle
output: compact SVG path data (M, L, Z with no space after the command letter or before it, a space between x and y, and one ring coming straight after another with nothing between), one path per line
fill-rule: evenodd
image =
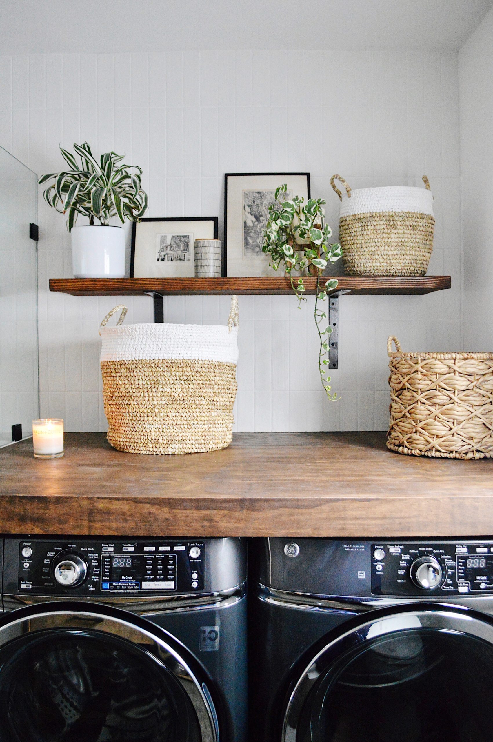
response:
M5 537L0 742L244 742L242 539Z

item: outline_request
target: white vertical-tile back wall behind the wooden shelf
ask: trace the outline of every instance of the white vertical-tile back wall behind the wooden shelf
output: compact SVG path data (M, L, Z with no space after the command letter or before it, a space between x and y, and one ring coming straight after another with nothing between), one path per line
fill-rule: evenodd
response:
M339 369L328 403L316 368L313 300L240 299L237 430L385 430L388 334L405 348L459 349L460 180L457 56L290 50L53 54L0 58L0 143L39 173L58 145L87 139L144 168L149 216L223 213L223 173L310 171L336 232L333 173L354 188L418 185L428 174L437 216L431 273L454 288L425 297L342 298ZM42 203L42 202L41 202ZM105 430L98 322L151 299L50 294L71 277L63 218L39 209L42 414L67 430ZM220 235L221 236L221 235ZM227 298L169 298L174 322L224 322Z

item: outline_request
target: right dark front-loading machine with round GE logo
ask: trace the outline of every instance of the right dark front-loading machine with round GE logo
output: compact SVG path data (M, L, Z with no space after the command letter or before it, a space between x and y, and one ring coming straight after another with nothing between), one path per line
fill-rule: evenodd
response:
M493 539L255 539L252 742L491 742Z

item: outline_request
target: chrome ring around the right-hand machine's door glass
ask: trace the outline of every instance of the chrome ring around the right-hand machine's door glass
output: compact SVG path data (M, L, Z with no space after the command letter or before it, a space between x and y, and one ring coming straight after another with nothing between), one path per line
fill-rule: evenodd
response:
M419 628L474 637L493 645L493 623L482 620L468 608L457 605L422 604L411 608L402 605L402 610L391 608L363 620L347 631L338 634L310 660L296 681L287 700L282 730L282 742L296 742L298 724L304 702L319 677L327 675L337 659L351 649L363 648L375 637L388 636Z

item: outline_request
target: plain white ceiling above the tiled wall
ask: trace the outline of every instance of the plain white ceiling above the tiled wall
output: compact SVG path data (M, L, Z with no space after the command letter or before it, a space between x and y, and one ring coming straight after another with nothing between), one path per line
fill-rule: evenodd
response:
M492 4L493 0L0 0L0 53L456 51Z

